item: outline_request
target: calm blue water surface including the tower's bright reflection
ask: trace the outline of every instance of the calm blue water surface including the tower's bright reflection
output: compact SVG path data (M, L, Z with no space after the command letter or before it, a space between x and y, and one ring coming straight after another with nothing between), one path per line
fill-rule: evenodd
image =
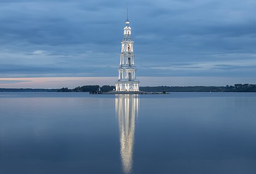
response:
M256 93L0 92L0 173L256 173Z

